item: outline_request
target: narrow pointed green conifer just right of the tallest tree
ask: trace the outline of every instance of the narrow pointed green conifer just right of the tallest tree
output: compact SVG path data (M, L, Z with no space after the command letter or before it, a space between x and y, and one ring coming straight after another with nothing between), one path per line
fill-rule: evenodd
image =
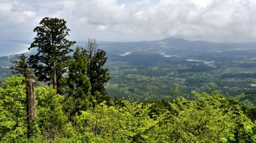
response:
M77 47L73 54L73 59L69 63L68 77L68 102L67 106L73 106L69 110L71 115L74 115L80 110L86 110L91 107L95 98L91 95L91 84L86 75L87 59L82 54L81 49ZM69 108L70 109L70 108Z

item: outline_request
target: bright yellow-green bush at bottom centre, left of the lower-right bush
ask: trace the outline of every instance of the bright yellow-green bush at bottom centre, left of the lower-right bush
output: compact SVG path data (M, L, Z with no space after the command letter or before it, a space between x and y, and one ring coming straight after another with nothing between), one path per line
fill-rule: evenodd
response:
M150 104L121 100L123 107L97 105L78 116L80 132L88 142L148 142L153 141L151 129L158 121L149 116ZM81 128L82 127L82 128Z

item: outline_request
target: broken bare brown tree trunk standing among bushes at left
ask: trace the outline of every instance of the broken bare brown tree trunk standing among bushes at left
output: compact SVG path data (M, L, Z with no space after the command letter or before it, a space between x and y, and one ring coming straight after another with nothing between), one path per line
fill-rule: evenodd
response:
M36 117L36 97L35 97L35 80L29 78L26 80L26 99L27 99L27 137L32 135L31 123Z

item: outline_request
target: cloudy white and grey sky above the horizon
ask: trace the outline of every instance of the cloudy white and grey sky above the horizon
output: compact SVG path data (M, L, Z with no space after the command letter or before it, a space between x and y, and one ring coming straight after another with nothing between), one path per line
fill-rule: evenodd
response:
M75 41L256 42L256 0L0 0L0 41L33 41L44 17Z

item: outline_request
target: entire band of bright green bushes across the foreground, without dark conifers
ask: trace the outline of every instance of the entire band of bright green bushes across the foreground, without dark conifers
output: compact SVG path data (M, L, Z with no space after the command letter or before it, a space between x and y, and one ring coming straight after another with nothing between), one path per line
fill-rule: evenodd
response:
M23 80L7 78L0 88L1 142L256 142L255 109L217 93L192 91L196 100L190 101L178 96L177 86L165 100L116 98L73 115L71 97L56 94L53 86L36 87L36 118L27 139Z

